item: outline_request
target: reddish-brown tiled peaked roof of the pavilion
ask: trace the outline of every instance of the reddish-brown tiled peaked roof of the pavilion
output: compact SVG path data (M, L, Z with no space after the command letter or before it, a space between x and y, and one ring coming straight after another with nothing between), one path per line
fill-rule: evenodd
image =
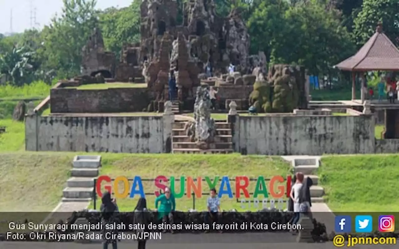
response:
M346 71L399 71L399 49L379 27L358 53L335 67Z

